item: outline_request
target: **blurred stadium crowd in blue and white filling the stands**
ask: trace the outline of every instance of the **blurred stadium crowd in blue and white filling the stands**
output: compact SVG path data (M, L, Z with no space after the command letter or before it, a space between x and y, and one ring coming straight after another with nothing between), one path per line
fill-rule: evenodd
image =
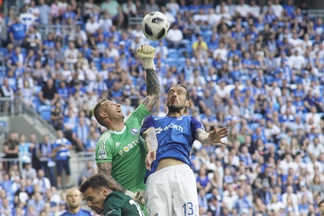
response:
M65 210L55 164L69 174L69 151L95 150L104 128L91 109L100 98L120 103L127 115L145 97L145 70L135 55L142 44L156 48L161 101L153 114L167 113L166 91L181 83L190 90L190 114L206 131L229 129L227 146L194 143L200 215L320 215L324 24L308 15L306 1L24 3L2 20L8 37L0 97L20 98L39 114L39 107L51 110L47 120L58 139L37 143L34 134L10 133L6 157L26 157L22 170L16 163L0 166L0 215ZM171 24L160 41L147 40L141 25L128 25L152 11ZM38 29L46 25L55 31L42 35ZM75 28L63 34L64 25ZM1 104L2 111L12 108ZM62 143L64 150L57 147ZM78 183L95 169L89 161Z

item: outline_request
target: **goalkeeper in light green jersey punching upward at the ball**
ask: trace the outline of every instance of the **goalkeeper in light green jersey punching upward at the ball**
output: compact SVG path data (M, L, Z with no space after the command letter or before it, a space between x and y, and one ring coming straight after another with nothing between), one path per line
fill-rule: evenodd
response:
M94 116L107 131L96 146L98 173L106 177L113 191L124 192L141 203L145 210L145 157L146 148L140 136L141 124L150 115L159 100L160 89L154 66L155 48L142 45L136 50L146 70L146 93L142 103L126 119L120 104L101 99L96 104Z

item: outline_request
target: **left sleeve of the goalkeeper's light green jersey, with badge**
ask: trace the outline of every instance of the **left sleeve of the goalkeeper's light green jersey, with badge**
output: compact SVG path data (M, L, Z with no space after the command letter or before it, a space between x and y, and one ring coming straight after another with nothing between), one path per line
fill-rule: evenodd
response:
M109 145L111 139L110 131L106 131L100 136L96 146L96 163L112 161L114 147Z

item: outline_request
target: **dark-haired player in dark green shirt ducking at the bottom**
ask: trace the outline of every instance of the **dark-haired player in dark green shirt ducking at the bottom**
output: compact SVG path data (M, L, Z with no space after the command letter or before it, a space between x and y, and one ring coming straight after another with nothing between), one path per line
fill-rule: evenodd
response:
M79 187L83 193L83 199L97 214L105 216L144 216L140 205L122 192L112 192L109 189L107 179L96 174Z

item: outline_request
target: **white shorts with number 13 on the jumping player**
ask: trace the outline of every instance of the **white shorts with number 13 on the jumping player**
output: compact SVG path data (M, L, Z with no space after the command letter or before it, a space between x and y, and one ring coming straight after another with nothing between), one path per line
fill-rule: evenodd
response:
M187 164L168 166L146 180L149 216L199 215L196 179Z

